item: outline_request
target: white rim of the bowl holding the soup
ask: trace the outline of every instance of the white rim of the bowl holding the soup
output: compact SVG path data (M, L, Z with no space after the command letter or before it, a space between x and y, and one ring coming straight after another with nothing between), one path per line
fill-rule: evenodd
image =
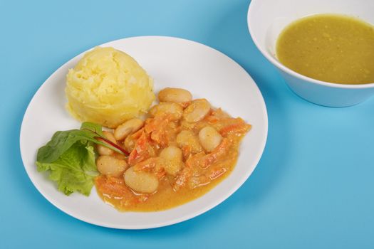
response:
M246 23L249 29L249 34L251 35L252 41L254 41L254 45L256 45L257 49L262 53L262 55L265 56L267 60L269 60L273 65L275 65L280 70L284 71L284 73L287 73L289 75L294 76L295 78L298 78L300 80L304 80L308 83L313 83L316 85L323 85L329 88L341 88L341 89L365 89L365 88L374 88L374 83L366 83L366 84L341 84L341 83L328 83L326 81L322 80L316 80L313 78L309 78L305 75L301 75L300 73L296 73L294 70L291 70L290 68L287 68L285 65L279 62L279 60L276 60L274 57L272 57L268 51L263 49L259 41L257 41L256 36L253 32L253 26L251 25L251 13L254 12L254 9L256 9L256 4L259 3L260 0L251 0L251 3L249 4L247 16L246 16Z

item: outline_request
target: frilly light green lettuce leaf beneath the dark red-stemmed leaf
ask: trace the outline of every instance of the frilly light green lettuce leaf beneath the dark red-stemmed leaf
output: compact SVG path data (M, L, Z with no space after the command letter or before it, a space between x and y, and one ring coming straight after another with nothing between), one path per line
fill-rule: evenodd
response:
M63 134L55 135L59 138L66 137ZM66 144L63 146L68 147ZM38 159L38 171L50 171L49 179L56 181L58 190L64 194L70 195L78 191L88 196L93 187L93 177L98 175L93 143L82 139L71 144L68 149L60 150L64 152L59 152L58 159L53 162Z

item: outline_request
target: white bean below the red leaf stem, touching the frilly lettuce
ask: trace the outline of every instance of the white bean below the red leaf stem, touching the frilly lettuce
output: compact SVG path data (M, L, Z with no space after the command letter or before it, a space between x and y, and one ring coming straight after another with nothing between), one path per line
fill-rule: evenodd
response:
M125 160L110 156L98 157L96 166L101 174L115 177L122 176L123 172L128 168Z

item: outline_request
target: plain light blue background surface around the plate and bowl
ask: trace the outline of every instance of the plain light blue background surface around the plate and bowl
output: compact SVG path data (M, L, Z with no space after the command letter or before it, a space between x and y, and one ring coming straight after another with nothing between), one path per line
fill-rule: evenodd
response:
M374 248L374 98L328 108L294 95L251 41L248 6L0 0L0 248ZM202 216L143 231L101 228L38 193L21 161L19 129L31 97L60 65L142 35L187 38L236 60L264 95L269 137L249 180Z

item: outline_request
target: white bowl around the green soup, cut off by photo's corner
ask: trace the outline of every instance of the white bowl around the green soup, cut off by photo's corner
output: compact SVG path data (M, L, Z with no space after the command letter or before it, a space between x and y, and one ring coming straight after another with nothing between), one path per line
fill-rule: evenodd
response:
M343 85L308 78L286 68L276 58L279 33L292 21L312 14L346 14L374 23L373 0L252 0L249 33L259 51L279 69L291 90L304 99L329 107L356 105L374 95L374 83Z

